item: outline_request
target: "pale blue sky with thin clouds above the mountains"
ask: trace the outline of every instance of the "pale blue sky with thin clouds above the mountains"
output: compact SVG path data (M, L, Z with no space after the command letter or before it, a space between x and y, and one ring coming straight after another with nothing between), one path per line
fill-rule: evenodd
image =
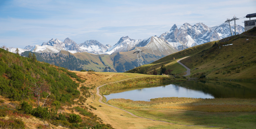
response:
M0 0L0 46L25 48L49 40L160 36L176 24L208 27L256 13L256 0ZM236 24L244 26L244 20Z

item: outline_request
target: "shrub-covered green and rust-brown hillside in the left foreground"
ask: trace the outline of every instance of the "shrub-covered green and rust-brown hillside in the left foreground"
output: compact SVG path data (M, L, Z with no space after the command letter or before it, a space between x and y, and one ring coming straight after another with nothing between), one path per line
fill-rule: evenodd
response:
M83 96L90 97L89 87L80 87L81 92L77 89L79 83L84 82L65 68L0 49L1 129L25 129L28 128L25 127L27 124L37 126L34 128L38 129L53 129L57 126L112 129L88 110L89 105L78 106L86 101ZM63 112L63 106L69 106L81 115ZM33 120L31 117L34 117Z

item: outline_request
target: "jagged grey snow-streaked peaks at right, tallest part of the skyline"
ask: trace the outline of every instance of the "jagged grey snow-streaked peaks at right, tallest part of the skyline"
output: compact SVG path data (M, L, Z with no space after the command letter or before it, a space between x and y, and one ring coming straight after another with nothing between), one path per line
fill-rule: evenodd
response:
M222 25L209 28L207 25L201 22L193 26L189 23L184 23L179 29L176 25L173 25L170 31L161 34L160 38L170 42L169 44L175 49L183 50L191 46L196 46L231 36L229 26L227 25L228 24L224 23ZM241 34L244 32L244 28L237 25L236 31Z

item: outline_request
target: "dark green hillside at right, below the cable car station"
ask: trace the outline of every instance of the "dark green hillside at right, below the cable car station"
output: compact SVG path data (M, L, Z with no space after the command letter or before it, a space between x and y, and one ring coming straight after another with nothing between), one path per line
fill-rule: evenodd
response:
M253 28L245 34L255 32ZM181 62L191 69L191 77L204 74L214 78L256 78L256 37L243 34L222 39Z

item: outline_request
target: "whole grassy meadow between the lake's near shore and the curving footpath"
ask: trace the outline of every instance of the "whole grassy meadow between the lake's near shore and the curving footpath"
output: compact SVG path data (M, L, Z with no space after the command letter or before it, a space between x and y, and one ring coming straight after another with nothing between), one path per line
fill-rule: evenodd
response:
M109 104L154 120L183 125L255 129L256 99L154 98L150 101L111 99Z

